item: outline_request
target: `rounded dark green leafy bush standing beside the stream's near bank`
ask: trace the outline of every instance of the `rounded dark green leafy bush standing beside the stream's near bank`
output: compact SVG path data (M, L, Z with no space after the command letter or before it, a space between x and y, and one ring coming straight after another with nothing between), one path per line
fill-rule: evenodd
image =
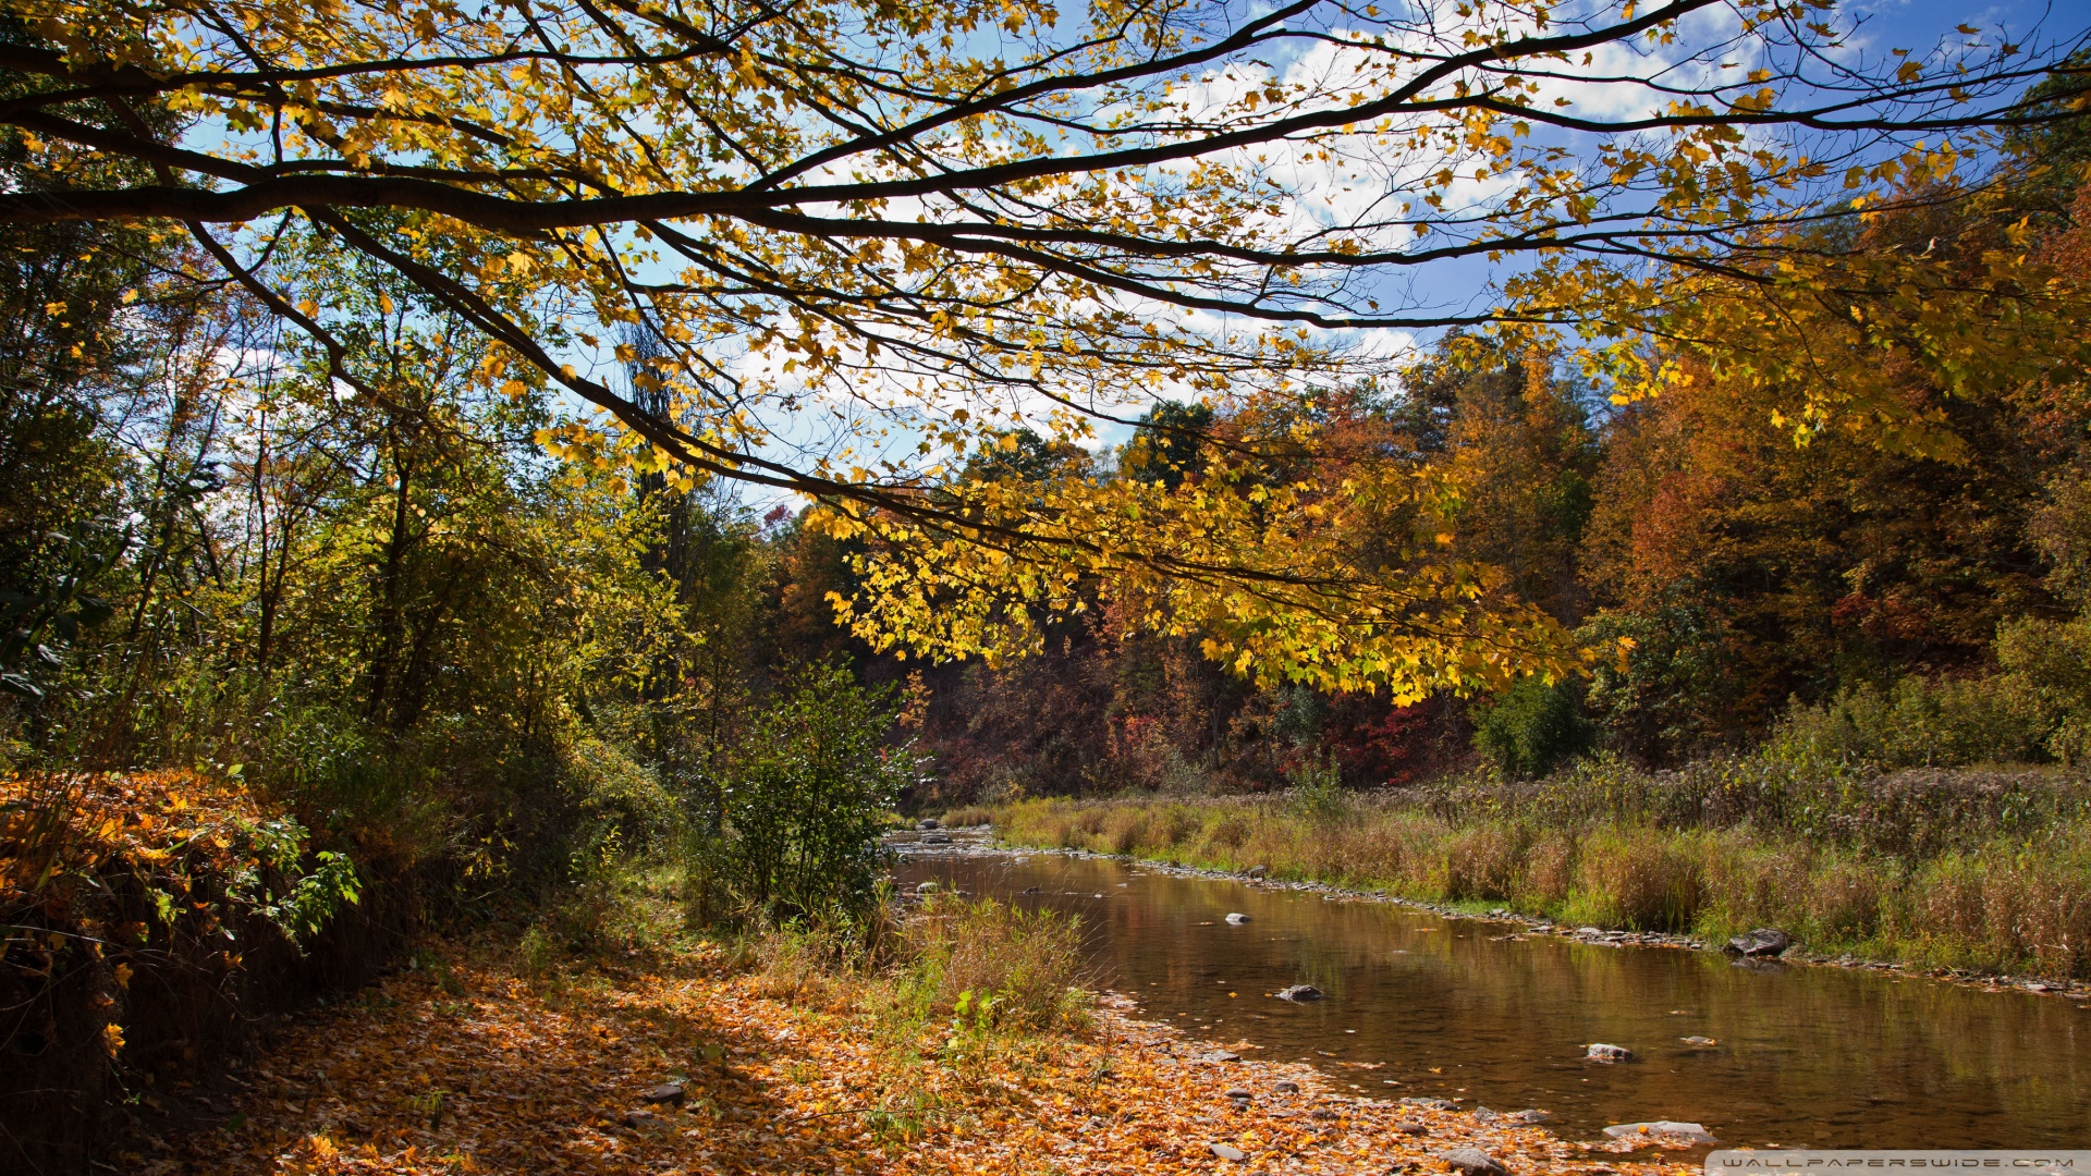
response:
M723 795L723 856L736 898L769 919L868 914L878 898L878 833L916 774L912 745L889 747L891 688L820 665L761 714Z

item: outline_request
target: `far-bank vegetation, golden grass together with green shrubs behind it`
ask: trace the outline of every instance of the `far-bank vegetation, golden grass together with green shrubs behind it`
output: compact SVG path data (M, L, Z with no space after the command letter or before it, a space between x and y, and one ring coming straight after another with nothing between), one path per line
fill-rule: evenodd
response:
M1428 783L1353 793L1330 755L1267 797L1190 787L953 820L1572 925L1713 942L1771 925L1815 954L2091 979L2085 621L2005 626L1997 665L1794 703L1750 751L1673 770L1589 753L1604 732L1533 684L1480 709L1483 766Z

